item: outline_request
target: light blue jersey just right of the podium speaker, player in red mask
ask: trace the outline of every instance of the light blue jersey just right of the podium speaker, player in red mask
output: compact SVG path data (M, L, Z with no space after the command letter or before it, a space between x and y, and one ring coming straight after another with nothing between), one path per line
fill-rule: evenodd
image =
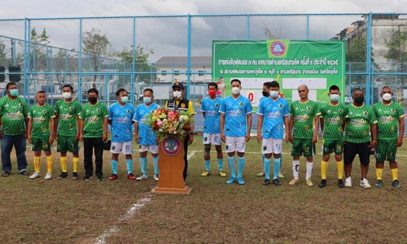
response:
M216 97L203 99L200 111L205 112L205 121L203 121L203 133L220 134L220 113L219 108L222 103L221 98Z

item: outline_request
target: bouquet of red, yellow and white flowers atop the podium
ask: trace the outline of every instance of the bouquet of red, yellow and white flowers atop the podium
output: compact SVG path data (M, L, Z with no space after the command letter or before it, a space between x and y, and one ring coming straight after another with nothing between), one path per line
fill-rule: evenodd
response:
M188 111L171 111L165 108L158 108L144 118L145 124L148 124L154 130L160 142L169 135L175 135L182 138L185 130L182 128L188 122L193 123L193 118Z

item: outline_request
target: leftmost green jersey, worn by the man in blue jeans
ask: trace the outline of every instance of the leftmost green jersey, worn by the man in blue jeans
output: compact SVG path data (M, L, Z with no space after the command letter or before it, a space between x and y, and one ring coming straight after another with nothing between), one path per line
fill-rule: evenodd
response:
M28 105L24 99L10 99L7 95L0 99L0 114L2 116L3 135L24 135L25 117L28 115Z

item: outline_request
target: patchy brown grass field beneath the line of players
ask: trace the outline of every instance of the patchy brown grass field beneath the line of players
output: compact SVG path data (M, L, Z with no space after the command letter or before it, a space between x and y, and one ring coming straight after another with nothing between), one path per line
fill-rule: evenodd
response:
M401 189L391 187L388 164L383 173L384 187L374 187L373 157L368 173L371 189L359 186L358 160L352 172L354 187L339 189L333 157L328 166L328 186L319 189L321 155L314 158L314 187L305 185L303 158L301 184L288 185L292 179L289 144L284 145L282 186L261 185L263 178L255 176L262 166L260 146L254 137L246 146L246 185L225 184L228 177L216 174L214 152L212 174L201 177L205 168L203 147L196 136L189 148L193 156L187 185L193 190L188 196L150 195L156 185L154 179L128 180L123 156L118 180L58 180L59 155L53 150L53 178L30 180L16 173L13 152L12 174L0 178L0 239L1 243L97 243L98 236L108 233L102 239L105 243L407 243L407 140L404 143L398 151ZM317 148L321 148L319 143ZM32 173L34 154L29 149L26 155ZM83 176L83 151L80 156L79 174ZM138 151L133 156L133 167L139 174ZM72 155L68 159L71 176ZM103 168L107 178L111 173L108 151L104 151ZM226 160L224 168L228 173ZM43 155L43 176L45 171ZM153 176L150 156L148 173ZM129 209L143 198L150 201L129 215Z

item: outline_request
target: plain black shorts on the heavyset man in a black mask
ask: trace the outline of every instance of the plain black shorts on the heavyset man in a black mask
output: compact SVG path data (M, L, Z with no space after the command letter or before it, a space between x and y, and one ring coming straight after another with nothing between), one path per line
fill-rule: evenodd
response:
M344 165L352 164L356 155L359 155L359 160L362 165L370 163L370 142L348 142L345 141L343 146L343 163Z

